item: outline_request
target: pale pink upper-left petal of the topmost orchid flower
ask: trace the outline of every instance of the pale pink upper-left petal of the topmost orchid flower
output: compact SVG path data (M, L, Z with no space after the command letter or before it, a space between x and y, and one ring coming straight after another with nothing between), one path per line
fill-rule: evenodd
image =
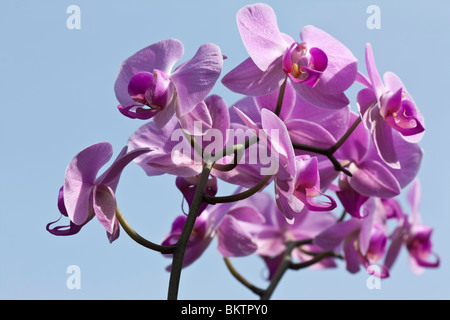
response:
M275 12L266 4L248 5L238 11L236 20L250 58L266 71L289 46L278 29Z

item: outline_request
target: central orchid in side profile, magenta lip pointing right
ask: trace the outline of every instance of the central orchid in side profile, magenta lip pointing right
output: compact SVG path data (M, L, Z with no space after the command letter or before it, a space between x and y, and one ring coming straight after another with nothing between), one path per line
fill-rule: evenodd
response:
M293 222L295 213L301 212L305 206L311 211L329 211L336 207L333 198L320 191L317 158L295 156L286 125L278 116L268 109L261 110L260 129L245 113L236 111L279 157L278 171L274 174L275 197L288 221ZM319 195L327 197L329 202L314 202L312 199Z

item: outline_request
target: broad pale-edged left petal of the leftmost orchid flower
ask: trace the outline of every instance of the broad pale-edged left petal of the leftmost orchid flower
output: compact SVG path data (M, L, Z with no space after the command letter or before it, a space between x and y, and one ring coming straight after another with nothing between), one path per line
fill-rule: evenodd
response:
M64 205L67 215L77 225L89 216L89 196L98 171L112 156L108 142L94 144L78 153L66 170L64 180Z

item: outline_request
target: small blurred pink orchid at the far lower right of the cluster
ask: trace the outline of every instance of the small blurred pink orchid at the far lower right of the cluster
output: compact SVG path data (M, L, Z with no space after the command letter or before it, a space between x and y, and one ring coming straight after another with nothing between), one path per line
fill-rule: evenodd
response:
M420 183L418 179L415 179L407 194L411 215L409 217L405 213L401 216L396 215L399 226L391 236L392 243L385 259L385 264L391 267L404 244L409 253L410 268L415 274L422 274L425 268L437 268L440 265L439 256L432 251L433 228L423 225L420 218L420 199ZM429 261L431 256L434 256L434 261Z

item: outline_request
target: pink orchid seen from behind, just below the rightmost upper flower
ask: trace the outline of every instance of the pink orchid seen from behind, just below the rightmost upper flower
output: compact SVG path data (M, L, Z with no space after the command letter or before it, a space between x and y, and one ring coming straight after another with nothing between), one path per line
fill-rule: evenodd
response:
M358 117L351 114L350 123ZM336 158L346 167L351 177L341 174L338 196L354 217L361 216L358 206L364 197L392 198L401 193L417 175L423 157L418 144L405 141L399 133L393 133L399 163L402 169L388 166L379 156L368 130L358 126L353 134L335 153ZM328 166L328 169L326 168ZM331 164L325 162L321 167L321 180L332 181L338 176ZM350 206L353 208L349 209Z

